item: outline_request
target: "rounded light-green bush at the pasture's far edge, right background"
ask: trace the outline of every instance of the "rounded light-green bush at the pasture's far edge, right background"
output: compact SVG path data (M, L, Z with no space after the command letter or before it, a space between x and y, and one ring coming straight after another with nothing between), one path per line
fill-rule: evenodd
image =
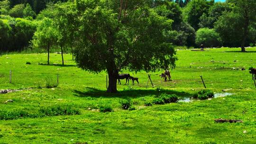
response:
M209 28L200 28L196 32L196 40L197 45L204 45L206 47L216 47L221 46L221 39L219 34L214 31L214 29Z

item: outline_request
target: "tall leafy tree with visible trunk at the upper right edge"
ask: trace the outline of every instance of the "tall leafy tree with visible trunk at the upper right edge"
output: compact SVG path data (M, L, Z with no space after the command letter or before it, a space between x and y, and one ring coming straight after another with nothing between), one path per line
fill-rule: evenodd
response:
M239 42L241 51L246 52L245 45L250 30L255 29L256 0L228 0L234 5L231 12L223 14L215 23L224 42Z

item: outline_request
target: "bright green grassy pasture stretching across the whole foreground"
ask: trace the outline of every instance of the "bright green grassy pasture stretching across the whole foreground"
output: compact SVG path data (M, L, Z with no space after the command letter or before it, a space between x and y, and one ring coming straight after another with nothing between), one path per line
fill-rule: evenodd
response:
M105 93L106 72L82 71L70 54L64 54L65 66L61 54L51 54L50 65L44 65L47 54L1 55L0 90L21 91L0 94L0 144L256 144L256 88L248 71L256 67L256 47L247 48L247 53L240 53L240 48L207 50L178 50L173 81L161 81L162 71L129 72L139 78L139 85L121 80L116 94ZM59 86L44 88L45 79L57 74ZM155 88L149 84L146 89L147 74ZM229 89L233 95L144 106L162 92L191 97L203 89L200 75L207 89ZM8 99L14 102L5 104ZM121 109L122 99L131 99L136 110ZM99 112L105 105L114 111ZM57 107L70 113L42 115ZM217 118L243 123L216 123Z

